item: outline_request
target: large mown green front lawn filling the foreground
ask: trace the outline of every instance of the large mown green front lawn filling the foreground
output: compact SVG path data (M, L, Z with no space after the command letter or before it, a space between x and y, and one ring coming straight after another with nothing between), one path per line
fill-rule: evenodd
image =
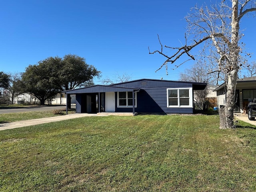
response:
M85 117L0 132L0 191L256 191L256 127L219 116Z

